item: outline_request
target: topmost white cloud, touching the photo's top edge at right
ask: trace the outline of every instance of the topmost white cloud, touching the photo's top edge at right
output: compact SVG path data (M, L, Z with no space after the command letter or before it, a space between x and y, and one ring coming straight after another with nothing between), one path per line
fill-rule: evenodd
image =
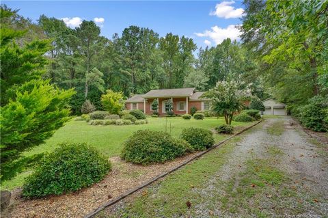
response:
M219 18L241 18L243 16L243 8L234 8L231 6L234 1L222 1L215 5L215 11L210 12L211 16L217 16Z

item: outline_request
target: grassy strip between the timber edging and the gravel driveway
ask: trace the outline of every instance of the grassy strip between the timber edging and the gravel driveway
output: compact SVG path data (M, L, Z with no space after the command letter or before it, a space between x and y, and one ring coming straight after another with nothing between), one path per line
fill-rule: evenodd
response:
M128 204L130 206L119 212L120 217L180 217L186 214L187 201L197 204L202 199L193 189L204 188L208 178L226 163L227 154L233 151L236 141L240 139L241 137L235 137L229 144L212 150L144 190Z

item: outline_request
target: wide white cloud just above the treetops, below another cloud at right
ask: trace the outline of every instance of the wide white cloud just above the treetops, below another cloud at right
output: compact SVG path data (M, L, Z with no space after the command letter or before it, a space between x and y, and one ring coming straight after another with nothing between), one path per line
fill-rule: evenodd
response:
M210 29L211 30L204 31L204 33L195 33L195 35L198 37L208 37L213 40L215 44L220 44L226 38L238 40L241 35L241 31L239 31L236 25L229 25L226 29L218 26L210 27Z

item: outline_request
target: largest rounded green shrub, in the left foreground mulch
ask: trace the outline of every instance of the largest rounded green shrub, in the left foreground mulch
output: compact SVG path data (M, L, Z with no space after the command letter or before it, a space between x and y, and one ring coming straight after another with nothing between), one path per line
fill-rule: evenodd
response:
M99 182L111 170L111 163L86 144L61 144L44 157L23 186L26 197L60 195Z

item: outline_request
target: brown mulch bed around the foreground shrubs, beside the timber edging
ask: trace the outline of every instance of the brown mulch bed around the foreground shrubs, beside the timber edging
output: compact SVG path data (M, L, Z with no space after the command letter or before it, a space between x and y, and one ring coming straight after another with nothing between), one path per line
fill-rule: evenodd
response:
M38 200L18 198L8 217L83 217L101 204L122 195L144 182L168 172L180 163L192 159L197 152L187 154L174 161L149 166L135 165L111 158L113 169L102 180L76 193L50 196Z

